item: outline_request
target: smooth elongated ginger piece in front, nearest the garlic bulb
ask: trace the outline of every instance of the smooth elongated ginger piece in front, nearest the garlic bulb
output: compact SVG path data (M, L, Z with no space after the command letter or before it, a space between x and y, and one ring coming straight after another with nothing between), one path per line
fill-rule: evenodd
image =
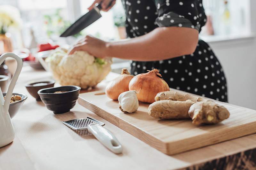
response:
M149 105L148 114L159 119L188 119L188 110L193 103L191 100L160 100Z

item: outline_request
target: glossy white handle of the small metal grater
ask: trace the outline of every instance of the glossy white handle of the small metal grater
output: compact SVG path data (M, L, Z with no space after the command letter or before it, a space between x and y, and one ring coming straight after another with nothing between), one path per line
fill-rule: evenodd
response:
M88 131L92 133L103 145L114 153L122 153L123 147L115 135L98 123L88 125Z

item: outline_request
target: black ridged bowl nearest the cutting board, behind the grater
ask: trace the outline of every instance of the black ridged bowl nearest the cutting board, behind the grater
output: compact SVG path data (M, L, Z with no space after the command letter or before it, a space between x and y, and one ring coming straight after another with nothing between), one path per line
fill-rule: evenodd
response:
M81 87L70 85L41 89L38 94L47 107L54 114L67 113L76 105ZM54 93L58 91L67 91Z

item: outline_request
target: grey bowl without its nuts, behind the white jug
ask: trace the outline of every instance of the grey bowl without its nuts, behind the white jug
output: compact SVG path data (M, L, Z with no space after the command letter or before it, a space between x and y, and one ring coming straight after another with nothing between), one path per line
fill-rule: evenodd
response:
M6 95L6 93L3 93L3 96L5 96L5 95ZM19 112L23 103L28 98L28 95L22 94L22 93L12 93L12 95L19 95L21 97L21 100L10 103L10 107L9 107L8 111L9 111L11 118L13 118Z

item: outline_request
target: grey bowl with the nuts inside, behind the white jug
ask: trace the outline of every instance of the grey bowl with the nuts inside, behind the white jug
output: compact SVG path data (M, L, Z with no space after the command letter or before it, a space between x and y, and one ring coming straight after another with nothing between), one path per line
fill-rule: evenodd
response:
M6 93L3 93L4 99L5 99ZM20 108L22 107L25 100L28 98L28 95L22 94L22 93L12 93L11 101L10 101L10 107L9 107L9 114L11 118L13 118Z

